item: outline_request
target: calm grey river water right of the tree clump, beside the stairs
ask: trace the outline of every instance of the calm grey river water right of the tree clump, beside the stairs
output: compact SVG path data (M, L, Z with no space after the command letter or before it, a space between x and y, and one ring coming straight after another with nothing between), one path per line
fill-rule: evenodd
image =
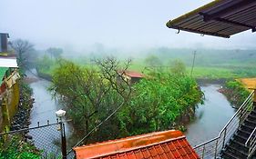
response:
M186 132L192 146L216 137L235 113L229 101L218 92L218 89L220 89L218 84L201 86L205 94L205 102L199 105L196 110L196 119L189 124Z

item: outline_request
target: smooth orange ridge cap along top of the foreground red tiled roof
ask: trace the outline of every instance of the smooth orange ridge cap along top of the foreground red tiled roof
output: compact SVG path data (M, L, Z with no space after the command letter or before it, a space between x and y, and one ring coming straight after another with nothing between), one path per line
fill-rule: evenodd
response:
M177 130L168 130L163 132L153 132L149 134L140 134L129 136L107 142L83 145L73 148L77 155L82 154L86 158L96 158L98 156L115 154L117 152L126 152L141 147L148 147L152 144L173 141L185 136Z

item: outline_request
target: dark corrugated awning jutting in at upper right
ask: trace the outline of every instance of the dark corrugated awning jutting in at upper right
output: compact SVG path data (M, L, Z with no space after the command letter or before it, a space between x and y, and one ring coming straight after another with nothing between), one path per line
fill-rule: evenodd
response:
M169 28L229 38L256 31L256 0L215 0L167 23Z

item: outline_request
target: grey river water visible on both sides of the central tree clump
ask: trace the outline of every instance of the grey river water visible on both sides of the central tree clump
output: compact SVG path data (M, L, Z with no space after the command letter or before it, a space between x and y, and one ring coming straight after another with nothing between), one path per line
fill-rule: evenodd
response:
M35 75L28 75L37 78ZM44 79L30 84L34 92L35 104L31 112L30 127L36 126L37 122L46 124L56 123L56 110L59 108L57 102L47 91L50 83ZM204 104L200 104L196 110L196 118L190 123L185 133L189 143L194 146L216 137L221 128L229 121L235 110L223 94L218 92L219 84L202 85L201 90L205 94Z

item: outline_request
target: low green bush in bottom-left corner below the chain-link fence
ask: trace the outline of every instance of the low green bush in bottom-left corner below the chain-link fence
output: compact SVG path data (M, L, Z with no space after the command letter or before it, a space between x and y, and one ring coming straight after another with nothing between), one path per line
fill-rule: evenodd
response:
M33 144L22 140L19 135L2 135L0 138L0 159L39 159L40 152Z

